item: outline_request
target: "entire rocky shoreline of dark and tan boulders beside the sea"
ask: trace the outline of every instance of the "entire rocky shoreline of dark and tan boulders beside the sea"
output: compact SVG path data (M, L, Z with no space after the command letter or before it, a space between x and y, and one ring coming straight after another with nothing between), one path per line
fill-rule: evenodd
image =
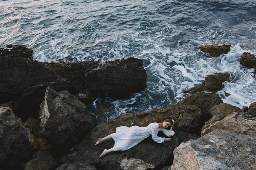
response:
M230 46L199 48L216 57L227 54ZM143 62L44 63L32 60L32 53L23 45L0 48L0 169L256 169L256 102L240 109L215 94L232 73L208 75L203 86L184 91L189 96L177 105L97 124L88 104L98 94L122 99L143 91ZM255 58L244 53L240 63L256 68ZM167 117L175 119L171 142L157 144L149 137L99 159L114 142L95 142L116 127L147 126Z

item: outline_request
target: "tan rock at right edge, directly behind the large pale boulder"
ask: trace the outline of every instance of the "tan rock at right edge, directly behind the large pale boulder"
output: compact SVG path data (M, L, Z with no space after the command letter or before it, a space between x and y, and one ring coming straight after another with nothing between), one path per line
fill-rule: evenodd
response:
M246 135L256 135L256 116L234 112L220 121L204 126L201 134L204 136L215 129L224 129Z

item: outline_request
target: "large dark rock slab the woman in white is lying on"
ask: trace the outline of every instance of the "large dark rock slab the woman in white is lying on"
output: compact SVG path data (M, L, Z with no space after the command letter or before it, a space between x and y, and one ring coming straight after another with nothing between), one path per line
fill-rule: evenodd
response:
M205 97L205 99L201 97ZM150 166L152 165L156 168L163 167L166 164L170 165L172 163L172 151L174 148L181 142L186 142L189 139L197 139L198 136L192 132L198 131L200 135L200 125L204 125L206 121L202 119L202 110L207 112L213 105L221 102L221 99L216 94L199 93L192 94L189 99L184 99L184 101L177 105L168 105L166 108L154 109L148 112L127 113L117 116L106 123L94 127L86 139L74 146L73 153L67 154L60 161L61 163L87 161L90 164L97 164L99 169L104 168L105 170L122 170L124 167L121 166L121 161L126 158L128 160L131 159L130 161L142 160L143 164L150 164ZM199 108L199 105L201 108ZM97 146L94 145L95 142L99 138L115 133L116 127L131 127L133 125L145 127L151 122L159 122L168 117L175 119L175 135L172 136L171 142L158 144L149 137L129 150L110 153L99 159L102 151L106 148L113 147L114 142L113 140L108 140ZM161 132L158 135L164 137ZM140 164L141 161L137 163Z

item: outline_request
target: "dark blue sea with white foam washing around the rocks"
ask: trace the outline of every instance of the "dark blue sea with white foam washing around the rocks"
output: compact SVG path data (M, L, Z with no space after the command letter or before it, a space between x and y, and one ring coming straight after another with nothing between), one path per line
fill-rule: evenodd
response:
M223 43L233 45L217 58L195 47ZM239 64L243 52L256 54L256 0L0 0L0 46L8 44L43 62L142 59L148 88L107 98L106 118L164 107L223 71L234 73L218 92L224 102L256 101L255 70Z

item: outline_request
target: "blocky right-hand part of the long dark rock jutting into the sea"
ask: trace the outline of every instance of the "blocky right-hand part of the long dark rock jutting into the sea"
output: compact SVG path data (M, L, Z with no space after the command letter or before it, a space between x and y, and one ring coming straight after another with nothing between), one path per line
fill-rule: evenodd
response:
M133 57L109 62L45 63L61 77L70 79L76 89L109 94L117 99L143 91L146 72L143 61Z

